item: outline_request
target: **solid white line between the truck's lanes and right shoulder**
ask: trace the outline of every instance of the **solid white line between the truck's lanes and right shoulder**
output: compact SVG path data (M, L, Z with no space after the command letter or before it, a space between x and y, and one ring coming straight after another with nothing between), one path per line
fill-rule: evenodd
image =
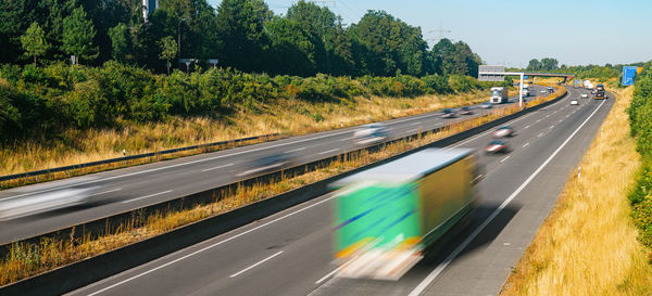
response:
M560 153L560 151L562 151L562 149L564 146L566 146L566 144L570 141L570 139L573 139L573 137L575 137L575 134L589 121L589 119L591 119L591 117L593 117L593 115L600 110L600 107L602 107L602 105L604 104L604 102L602 102L594 111L593 113L591 113L591 115L589 115L589 117L587 117L587 119L581 123L581 125L579 125L579 127L577 127L577 129L568 137L568 139L566 139L566 141L564 141L564 143L562 143L562 145L560 145L553 153L552 155L550 155L550 157L548 157L548 159L546 159L546 162L543 162L543 164L541 164L541 166L539 166L539 168L537 168L537 170L535 170L535 172L532 172L532 175L530 175L525 182L523 182L523 184L521 184L516 191L514 191L496 210L493 210L493 213L491 213L491 216L487 217L487 219L478 227L476 228L471 235L468 235L464 242L462 242L454 250L453 253L451 253L451 255L449 255L443 262L441 262L437 268L435 268L435 270L432 270L432 272L430 272L430 274L428 274L428 276L426 276L426 279L424 279L411 293L409 296L417 296L419 294L422 294L426 287L428 287L428 285L430 285L430 283L432 281L435 281L435 279L453 261L453 259L455 259L455 257L457 257L457 255L460 255L460 253L466 248L466 246L468 246L468 244L471 244L471 242L516 197L516 195L518 195L518 193L521 193L525 186L527 186L534 179L535 177L537 177L537 175L539 175L539 172L541 172L541 170L543 170L543 168L546 168L546 166L548 166L548 164L552 160L552 158L554 158L554 156L557 155L557 153Z

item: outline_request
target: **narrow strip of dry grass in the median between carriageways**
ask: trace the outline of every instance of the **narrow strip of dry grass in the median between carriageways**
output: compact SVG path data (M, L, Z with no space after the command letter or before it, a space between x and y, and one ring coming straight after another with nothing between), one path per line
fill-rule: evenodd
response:
M537 105L562 95L564 92L565 91L557 91L546 98L537 99L529 104L530 106ZM375 153L360 152L347 159L334 162L328 166L318 168L314 171L300 176L286 176L286 178L278 182L238 188L235 192L225 193L224 196L217 198L217 202L208 205L197 206L196 208L180 211L159 213L149 217L136 217L133 221L112 231L112 233L106 233L99 237L84 235L82 239L63 241L43 239L40 244L16 242L12 244L11 252L8 256L0 260L0 285L5 285L58 267L116 249L171 231L175 228L199 221L206 217L220 215L353 168L387 158L401 152L426 145L444 137L468 130L517 111L519 111L519 108L515 105L496 108L487 116L459 121L447 126L438 132L429 132L412 141L405 140L394 142Z

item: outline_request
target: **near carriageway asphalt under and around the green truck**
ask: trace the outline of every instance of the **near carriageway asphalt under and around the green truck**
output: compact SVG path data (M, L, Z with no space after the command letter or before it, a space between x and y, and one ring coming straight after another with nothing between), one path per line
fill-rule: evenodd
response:
M613 95L570 105L582 91L509 123L512 151L480 156L482 201L469 227L397 282L333 278L325 195L71 295L496 295L613 105ZM450 147L489 141L487 131Z

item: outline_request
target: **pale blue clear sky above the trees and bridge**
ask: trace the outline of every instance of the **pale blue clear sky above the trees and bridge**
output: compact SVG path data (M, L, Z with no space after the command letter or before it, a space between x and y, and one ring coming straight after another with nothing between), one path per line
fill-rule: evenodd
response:
M221 0L208 0L217 7ZM266 0L285 14L297 0ZM525 67L531 59L561 64L626 64L652 60L651 0L323 0L358 23L384 10L419 26L432 46L440 37L464 41L489 65ZM440 33L443 30L443 33Z

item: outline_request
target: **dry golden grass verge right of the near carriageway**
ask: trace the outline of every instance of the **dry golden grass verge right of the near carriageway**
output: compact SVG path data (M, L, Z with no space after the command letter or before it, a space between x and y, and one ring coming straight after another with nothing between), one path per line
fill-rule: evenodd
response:
M652 267L637 242L627 194L640 156L629 137L628 88L570 176L555 208L501 295L652 295Z

